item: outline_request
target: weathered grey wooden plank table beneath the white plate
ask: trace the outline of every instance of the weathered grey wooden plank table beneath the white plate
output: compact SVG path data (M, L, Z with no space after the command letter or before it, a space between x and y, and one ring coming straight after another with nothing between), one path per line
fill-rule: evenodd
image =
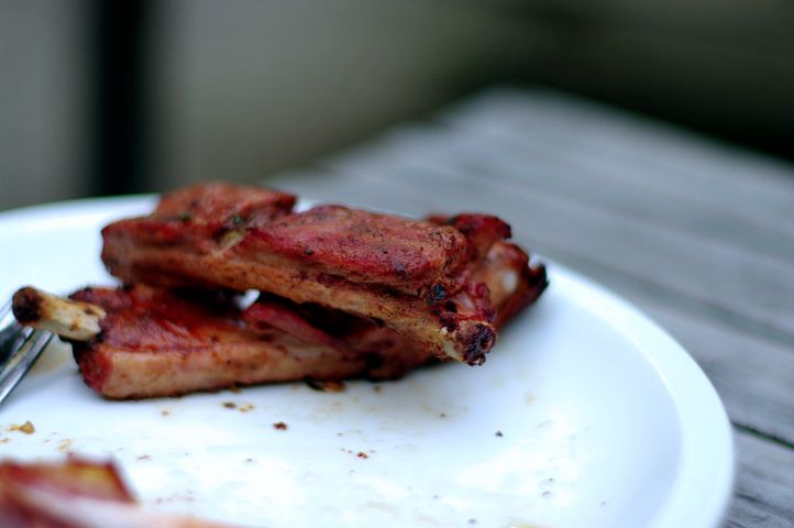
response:
M547 90L499 89L268 185L412 215L498 211L648 312L734 424L726 526L794 526L794 167Z

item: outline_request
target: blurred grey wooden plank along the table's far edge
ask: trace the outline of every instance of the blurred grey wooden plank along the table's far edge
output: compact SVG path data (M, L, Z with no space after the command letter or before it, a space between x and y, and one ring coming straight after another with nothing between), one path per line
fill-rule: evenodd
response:
M508 143L540 143L558 157L633 169L720 207L750 208L758 218L787 220L793 230L792 166L708 141L683 129L556 91L494 90L441 114L442 122Z

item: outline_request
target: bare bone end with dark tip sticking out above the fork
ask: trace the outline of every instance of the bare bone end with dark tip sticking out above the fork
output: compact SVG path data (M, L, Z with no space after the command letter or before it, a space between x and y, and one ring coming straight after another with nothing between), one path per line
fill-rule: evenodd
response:
M12 309L20 323L76 341L97 336L99 321L106 316L96 305L65 299L31 286L14 294Z

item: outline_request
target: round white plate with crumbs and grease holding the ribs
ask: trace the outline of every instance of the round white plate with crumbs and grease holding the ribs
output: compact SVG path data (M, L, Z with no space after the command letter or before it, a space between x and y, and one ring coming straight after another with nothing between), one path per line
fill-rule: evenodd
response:
M0 215L1 298L111 283L100 227L152 202ZM106 402L51 346L0 410L0 452L112 457L144 503L247 526L717 526L732 443L707 378L626 302L561 266L550 275L484 366L341 393ZM35 433L9 430L27 420Z

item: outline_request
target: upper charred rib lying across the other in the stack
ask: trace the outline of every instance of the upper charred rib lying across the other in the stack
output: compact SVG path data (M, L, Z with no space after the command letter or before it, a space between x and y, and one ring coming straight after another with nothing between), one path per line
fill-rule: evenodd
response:
M260 198L234 209L249 193ZM463 232L341 206L290 212L291 201L223 184L177 190L104 228L102 260L126 284L258 289L381 321L439 358L485 360L494 310L472 274L505 222L461 216Z

